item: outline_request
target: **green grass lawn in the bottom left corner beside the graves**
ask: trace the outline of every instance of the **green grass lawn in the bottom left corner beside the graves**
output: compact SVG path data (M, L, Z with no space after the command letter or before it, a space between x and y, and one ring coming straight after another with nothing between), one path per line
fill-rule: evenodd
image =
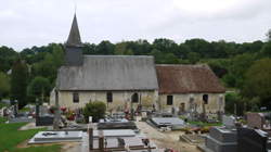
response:
M0 124L0 152L59 152L61 145L16 148L16 145L44 129L17 130L25 123Z

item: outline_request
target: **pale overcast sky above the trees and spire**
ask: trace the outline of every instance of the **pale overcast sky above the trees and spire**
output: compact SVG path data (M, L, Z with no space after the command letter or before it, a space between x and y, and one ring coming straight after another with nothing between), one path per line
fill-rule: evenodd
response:
M83 42L169 38L264 40L271 0L1 0L0 46L64 42L77 3Z

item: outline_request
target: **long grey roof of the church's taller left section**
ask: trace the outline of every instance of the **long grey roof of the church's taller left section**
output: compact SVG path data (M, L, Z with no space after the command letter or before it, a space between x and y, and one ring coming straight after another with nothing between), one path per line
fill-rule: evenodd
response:
M153 56L85 55L82 66L62 66L60 90L158 90Z

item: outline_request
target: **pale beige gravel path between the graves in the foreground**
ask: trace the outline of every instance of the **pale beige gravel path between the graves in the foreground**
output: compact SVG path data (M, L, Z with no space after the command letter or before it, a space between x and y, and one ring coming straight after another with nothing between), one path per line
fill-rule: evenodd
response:
M178 152L201 152L195 145L179 141L179 136L183 134L182 131L160 132L145 122L136 122L136 124L158 148L172 148Z

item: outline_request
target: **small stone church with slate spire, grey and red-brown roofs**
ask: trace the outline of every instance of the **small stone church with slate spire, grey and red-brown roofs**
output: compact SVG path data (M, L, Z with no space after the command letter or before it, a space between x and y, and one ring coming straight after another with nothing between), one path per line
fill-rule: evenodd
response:
M155 65L151 55L83 55L74 16L64 45L65 64L57 71L50 105L82 109L102 101L108 112L224 112L225 89L207 65ZM56 96L56 98L55 98Z

